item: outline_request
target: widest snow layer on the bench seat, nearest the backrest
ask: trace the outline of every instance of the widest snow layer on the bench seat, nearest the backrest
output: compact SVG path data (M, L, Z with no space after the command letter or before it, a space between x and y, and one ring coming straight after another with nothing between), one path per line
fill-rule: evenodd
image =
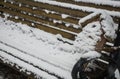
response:
M7 23L5 23L5 25L4 23L2 24L2 26L4 27L1 26L0 32L4 33L4 35L0 35L0 40L7 42L9 45L17 47L21 50L27 51L29 54L34 55L38 58L43 58L46 61L49 61L50 63L53 63L57 66L64 66L63 68L68 70L72 69L75 58L79 58L79 56L75 57L74 54L72 54L71 52L68 53L61 49L58 49L61 45L63 45L63 43L57 40L55 35L46 33L39 29L33 29L28 26L26 27L26 25L21 25L19 23L15 24L16 26L14 24L15 23L11 21L8 21ZM5 30L5 28L7 31ZM33 32L31 33L30 30L33 31L34 34L32 34ZM71 49L71 47L70 51L73 49ZM67 50L68 49L69 47L67 48ZM42 52L40 53L40 51Z

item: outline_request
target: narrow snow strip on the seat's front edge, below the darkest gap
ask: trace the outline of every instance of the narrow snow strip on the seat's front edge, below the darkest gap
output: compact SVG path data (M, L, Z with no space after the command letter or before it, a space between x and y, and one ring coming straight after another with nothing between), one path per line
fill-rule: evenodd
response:
M4 59L2 59L2 60L4 60L4 62L7 62L8 64L10 64L9 62L12 62L12 63L17 64L18 66L21 66L22 69L20 69L20 70L22 70L24 72L27 69L28 71L35 73L38 77L43 77L43 79L57 79L56 77L51 76L48 73L43 72L43 71L33 67L30 64L20 61L19 59L6 54L5 52L0 51L0 56L3 57Z

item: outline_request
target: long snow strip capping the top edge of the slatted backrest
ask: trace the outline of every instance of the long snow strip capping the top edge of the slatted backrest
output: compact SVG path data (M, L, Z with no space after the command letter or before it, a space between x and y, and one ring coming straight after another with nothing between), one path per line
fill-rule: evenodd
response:
M92 8L92 7L79 6L79 5L75 5L75 4L62 3L62 2L51 1L51 0L34 0L34 1L38 1L38 2L41 2L41 3L47 3L47 4L50 4L50 5L56 5L56 6L76 9L76 10L82 10L84 12L106 11L107 13L109 13L112 16L120 17L120 12L117 12L117 11L108 11L108 10L103 10L103 9L96 9L96 8Z

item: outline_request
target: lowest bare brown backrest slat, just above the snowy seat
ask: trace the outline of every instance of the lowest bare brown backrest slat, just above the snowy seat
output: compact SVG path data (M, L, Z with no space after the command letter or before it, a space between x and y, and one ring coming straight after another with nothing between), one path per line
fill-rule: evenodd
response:
M7 11L5 11L5 12L7 12ZM14 14L14 12L12 13L10 11L8 11L8 13ZM15 21L15 22L22 22L23 24L31 25L31 22L27 21L27 20L23 21L22 19L14 19L14 18L10 18L10 17L8 19L12 20L12 21ZM71 39L71 40L74 40L75 36L76 36L74 34L71 34L71 33L68 33L68 32L65 32L65 31L62 31L62 30L57 30L57 29L54 29L54 28L50 28L50 27L42 25L42 24L35 24L35 27L39 28L41 30L53 33L53 34L61 34L64 38L68 38L68 39Z

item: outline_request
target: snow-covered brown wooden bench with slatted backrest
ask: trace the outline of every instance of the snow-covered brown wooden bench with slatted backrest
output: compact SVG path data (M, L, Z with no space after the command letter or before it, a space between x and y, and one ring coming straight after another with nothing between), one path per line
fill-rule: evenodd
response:
M117 24L104 12L85 13L48 2L1 2L4 18L0 17L0 59L36 78L71 79L71 70L83 53L98 52L95 48L101 36L107 39L102 47L113 42Z

